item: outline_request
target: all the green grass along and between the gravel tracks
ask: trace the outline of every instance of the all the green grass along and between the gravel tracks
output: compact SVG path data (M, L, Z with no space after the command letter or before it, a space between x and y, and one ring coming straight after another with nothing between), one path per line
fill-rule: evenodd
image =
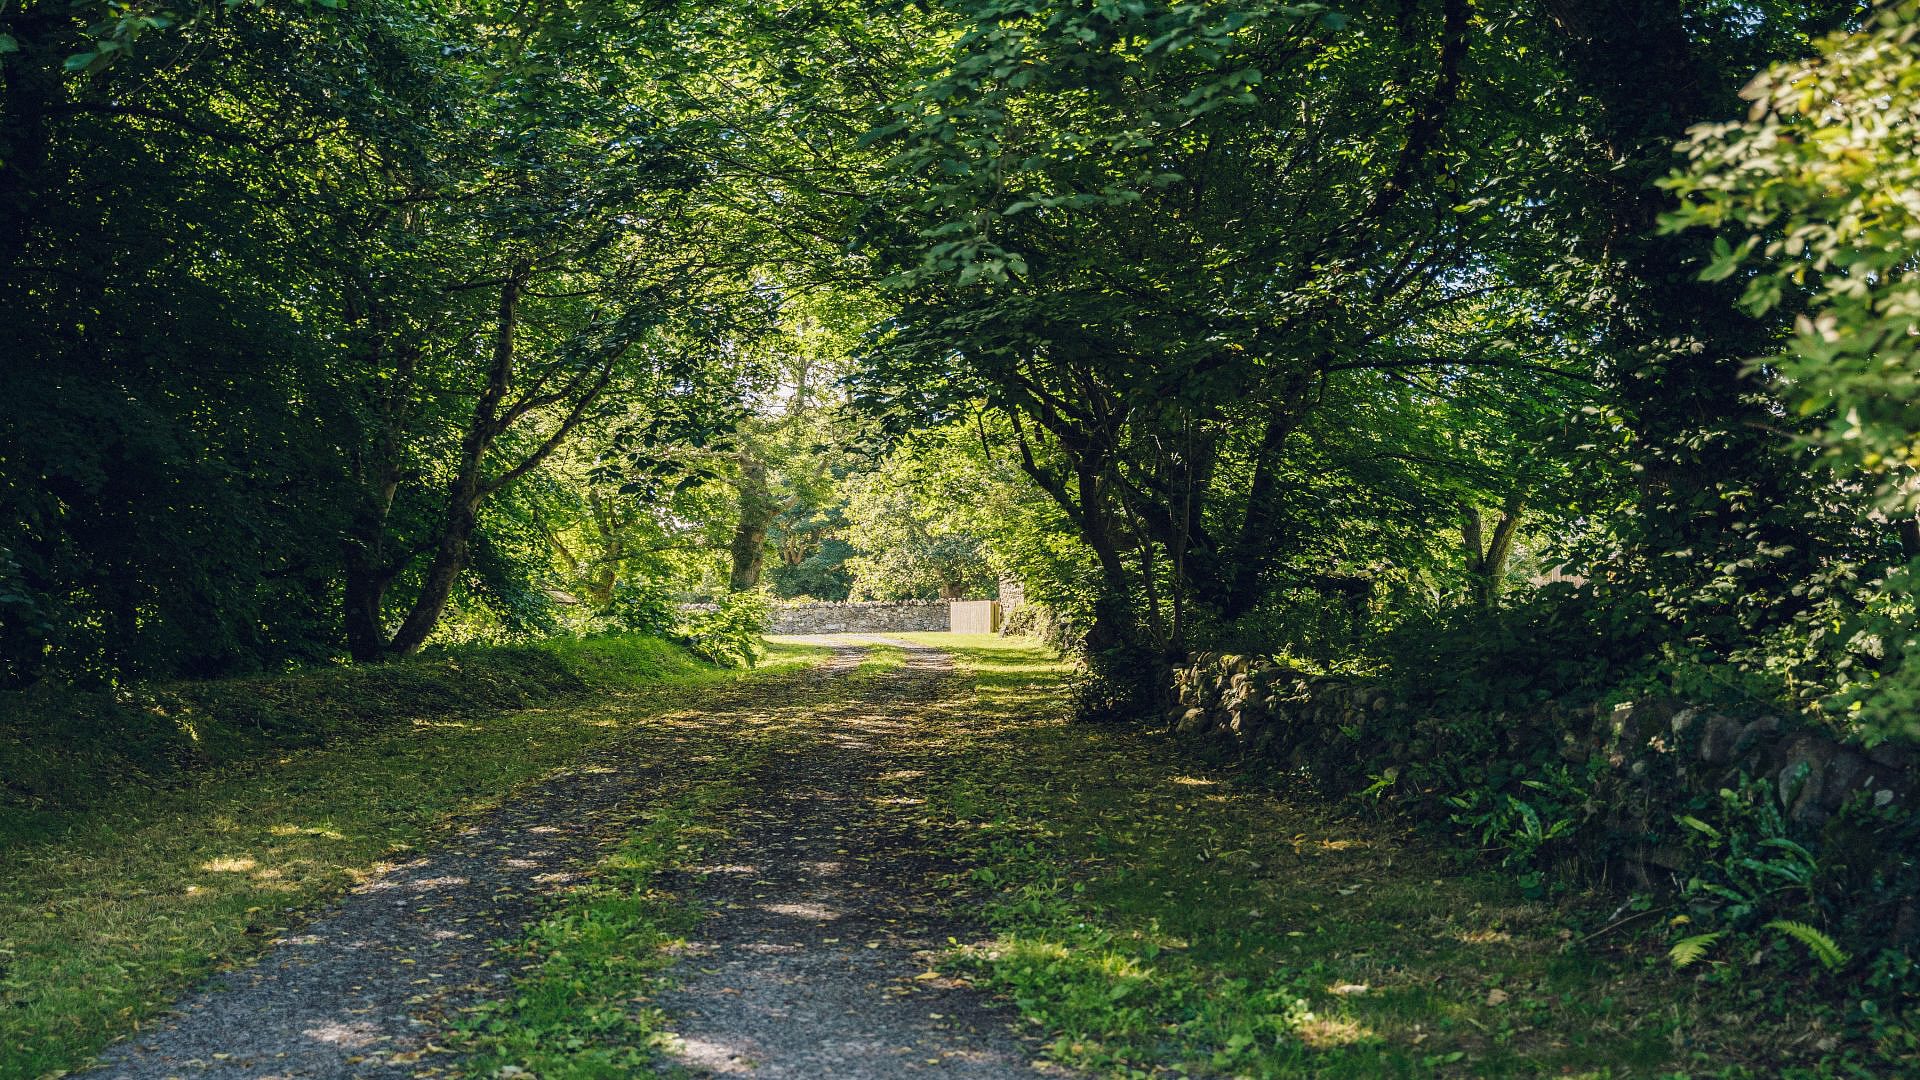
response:
M697 917L662 872L722 838L756 763L818 736L818 705L841 698L914 713L924 767L883 774L872 801L966 867L943 896L987 934L945 967L1092 1074L1872 1074L1824 1065L1830 1019L1782 1005L1809 986L1676 974L1657 928L1586 942L1603 909L1528 901L1392 821L1165 738L1071 724L1039 646L902 636L950 650L972 686L889 703L904 653L879 646L851 678L747 684L722 711L703 692L691 711L689 686L741 675L566 644L588 700L417 719L69 815L56 842L0 855L0 1078L84 1061L301 907L614 734L680 767L509 945L540 963L457 1049L472 1076L639 1072L668 1040L651 999ZM776 644L756 676L816 655Z

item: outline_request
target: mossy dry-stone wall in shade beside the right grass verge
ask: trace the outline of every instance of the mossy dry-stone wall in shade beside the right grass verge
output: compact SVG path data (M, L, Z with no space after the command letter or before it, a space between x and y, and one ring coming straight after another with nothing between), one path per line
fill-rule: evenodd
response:
M1916 832L1912 748L1855 746L1793 717L1734 717L1663 700L1444 717L1377 680L1315 676L1246 655L1190 657L1175 673L1175 694L1167 715L1175 732L1225 738L1336 794L1369 788L1440 819L1452 813L1440 780L1448 761L1467 774L1494 759L1524 763L1528 776L1561 765L1584 792L1572 811L1580 851L1638 888L1686 880L1697 855L1674 824L1678 815L1722 790L1764 784L1763 798L1814 851L1847 851L1849 865L1862 859L1859 851L1878 851L1853 869L1893 890L1884 932L1920 942L1914 859L1895 840Z

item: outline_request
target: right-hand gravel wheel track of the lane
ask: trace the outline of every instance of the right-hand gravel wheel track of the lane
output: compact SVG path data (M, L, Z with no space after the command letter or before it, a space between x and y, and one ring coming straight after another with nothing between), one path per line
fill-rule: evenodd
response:
M674 1063L695 1076L1033 1076L1008 1013L933 976L950 932L912 815L881 774L912 774L916 707L952 680L945 653L906 642L885 694L826 709L818 738L758 778L735 842L701 867L712 911L659 1005L678 1017ZM889 805L893 803L893 805ZM1060 1074L1060 1072L1048 1072Z

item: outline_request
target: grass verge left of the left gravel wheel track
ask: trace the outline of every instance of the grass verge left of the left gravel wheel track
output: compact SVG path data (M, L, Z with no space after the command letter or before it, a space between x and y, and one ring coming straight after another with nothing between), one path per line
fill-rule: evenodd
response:
M42 840L10 844L0 1078L73 1068L209 970L259 951L301 909L589 746L643 728L689 686L778 676L820 655L776 644L755 673L735 673L653 640L551 650L580 686L561 703L461 705L449 690L440 711L357 736L248 755L171 788L117 788L42 821Z

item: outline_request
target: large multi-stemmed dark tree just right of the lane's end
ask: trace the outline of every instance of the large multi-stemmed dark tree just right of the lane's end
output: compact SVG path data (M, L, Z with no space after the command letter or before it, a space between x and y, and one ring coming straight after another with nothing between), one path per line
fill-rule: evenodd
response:
M962 10L885 129L879 215L914 233L876 227L906 258L868 398L1014 419L1100 565L1096 651L1131 648L1140 607L1165 648L1231 632L1292 577L1288 482L1327 400L1421 369L1567 375L1551 344L1428 350L1450 309L1524 286L1542 227L1526 119L1469 79L1517 54L1465 2Z

